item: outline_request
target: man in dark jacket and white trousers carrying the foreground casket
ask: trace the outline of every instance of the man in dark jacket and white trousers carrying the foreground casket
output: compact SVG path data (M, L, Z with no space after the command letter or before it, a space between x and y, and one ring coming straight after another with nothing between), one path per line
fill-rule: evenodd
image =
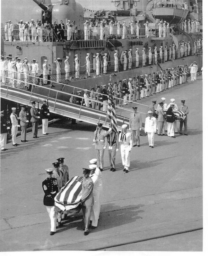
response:
M57 213L54 208L54 197L59 192L57 186L57 179L52 177L53 169L45 169L47 173L47 179L42 182L43 191L45 193L43 198L43 204L46 206L47 213L51 219L51 232L50 235L54 235L56 232Z

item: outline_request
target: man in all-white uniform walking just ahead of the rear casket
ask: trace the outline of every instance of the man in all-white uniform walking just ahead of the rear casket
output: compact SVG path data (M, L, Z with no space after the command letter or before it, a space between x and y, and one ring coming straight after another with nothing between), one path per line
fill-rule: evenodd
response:
M147 111L149 115L145 119L145 133L148 135L149 147L154 147L154 137L157 129L156 118L153 117L153 112L151 110Z

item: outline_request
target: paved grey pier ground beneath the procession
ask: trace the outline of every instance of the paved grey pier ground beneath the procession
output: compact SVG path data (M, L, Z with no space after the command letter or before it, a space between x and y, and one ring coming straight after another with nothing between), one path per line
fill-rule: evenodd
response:
M203 227L202 77L188 81L154 96L157 102L165 97L167 103L175 98L178 106L185 98L188 136L155 135L154 149L148 146L147 136L140 137L140 147L131 151L128 174L122 171L120 151L116 171L110 172L105 151L101 214L97 229L87 237L81 213L64 222L54 236L49 235L50 219L41 185L46 178L44 169L52 168L59 157L65 158L70 177L82 175L82 168L96 157L92 142L95 126L85 122L50 124L47 136L38 130L39 138L33 139L30 132L27 143L21 143L18 136L18 147L9 141L8 151L1 153L1 251L201 251L201 233L195 232ZM146 105L150 102L151 97L142 100ZM192 232L191 240L187 232ZM182 236L180 247L175 239L169 243L159 240L178 234Z

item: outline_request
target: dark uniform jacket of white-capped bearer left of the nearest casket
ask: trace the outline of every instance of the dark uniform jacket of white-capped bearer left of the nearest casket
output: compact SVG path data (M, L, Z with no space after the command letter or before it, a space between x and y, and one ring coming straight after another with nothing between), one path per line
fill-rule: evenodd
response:
M54 197L59 192L56 178L47 178L42 182L43 191L45 193L43 204L45 206L54 206ZM51 197L48 197L51 195Z

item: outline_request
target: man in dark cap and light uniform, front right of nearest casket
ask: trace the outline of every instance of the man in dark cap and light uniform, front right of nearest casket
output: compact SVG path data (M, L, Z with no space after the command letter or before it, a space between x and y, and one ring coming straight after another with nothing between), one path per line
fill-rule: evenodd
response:
M93 197L93 181L89 177L90 174L89 169L83 168L84 179L82 182L82 190L81 190L81 199L80 202L82 203L82 211L83 211L83 220L85 223L85 228L83 229L84 235L89 234L89 224L90 224L90 213L92 206L94 204L94 197Z

